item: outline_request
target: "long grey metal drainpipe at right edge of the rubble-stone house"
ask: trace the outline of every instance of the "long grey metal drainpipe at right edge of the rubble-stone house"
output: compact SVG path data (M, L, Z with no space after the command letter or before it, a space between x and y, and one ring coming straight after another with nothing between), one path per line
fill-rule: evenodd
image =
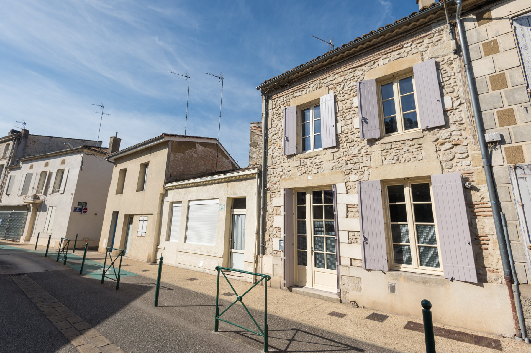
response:
M489 150L485 144L485 136L483 134L484 126L483 120L481 119L481 111L478 107L476 91L474 81L472 79L472 72L470 70L470 58L468 56L468 50L466 45L466 37L463 31L463 24L461 23L461 6L462 0L456 0L456 22L457 22L457 32L459 35L459 44L461 46L461 55L463 55L463 63L465 66L466 80L468 84L468 91L470 93L470 103L472 103L472 110L474 112L474 120L476 123L477 130L477 140L479 143L479 148L481 149L481 157L483 160L483 171L485 173L485 180L487 183L487 188L489 189L489 198L491 200L492 208L492 218L494 219L494 227L496 229L496 239L498 240L498 247L500 249L500 259L503 266L503 278L509 290L509 299L511 302L512 317L515 323L516 337L521 337L521 332L519 329L518 317L516 314L515 306L515 296L512 293L512 273L509 264L509 255L507 251L507 243L503 236L503 227L500 216L500 204L498 201L498 195L496 193L496 188L494 186L494 178L492 175L491 169L491 160L489 156Z

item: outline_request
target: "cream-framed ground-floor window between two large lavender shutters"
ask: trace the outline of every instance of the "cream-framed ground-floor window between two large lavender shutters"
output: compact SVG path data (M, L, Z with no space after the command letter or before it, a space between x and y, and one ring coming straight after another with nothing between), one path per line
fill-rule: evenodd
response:
M385 194L391 268L440 274L431 182L388 183Z

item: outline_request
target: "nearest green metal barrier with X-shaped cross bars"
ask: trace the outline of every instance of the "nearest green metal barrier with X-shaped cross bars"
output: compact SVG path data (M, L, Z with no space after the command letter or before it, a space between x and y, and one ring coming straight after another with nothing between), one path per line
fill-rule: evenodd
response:
M267 342L268 341L267 281L271 280L271 276L264 275L263 273L254 273L254 272L236 270L236 269L233 269L233 268L226 268L226 267L221 267L221 266L216 266L216 270L218 271L218 284L217 284L217 287L216 287L216 321L214 323L214 331L218 332L219 321L223 321L223 322L226 322L228 324L231 324L231 325L234 325L236 327L239 327L241 329L244 329L245 331L249 331L249 332L252 332L254 334L258 334L258 336L262 336L264 338L264 352L267 352L268 351L268 342ZM247 292L245 292L242 295L238 295L238 293L236 293L236 289L234 289L233 285L230 284L230 281L227 278L227 276L225 276L225 272L223 272L223 270L232 271L232 272L238 272L238 273L246 273L247 275L258 276L258 277L261 277L261 278L260 278L259 281L256 281L256 283L251 288L247 289ZM227 283L229 284L230 288L232 288L234 294L236 295L236 300L232 304L230 304L221 314L219 313L219 305L218 305L218 301L219 301L219 272L221 272L223 277L225 277L225 279L227 280ZM251 315L251 312L249 311L249 309L247 309L247 307L243 303L242 298L243 298L243 296L245 294L249 293L251 291L251 289L253 289L256 285L258 285L263 280L264 280L264 329L262 330L260 328L260 325L256 322L256 320L254 320L254 317L253 317L253 315ZM245 328L244 326L238 325L238 324L236 324L234 322L230 322L228 320L221 319L221 315L223 315L227 310L230 309L230 307L232 307L237 302L242 303L242 306L244 307L245 311L247 312L247 314L249 314L249 316L251 317L251 320L253 320L254 324L256 325L256 327L258 328L258 330L260 332L253 331L251 329Z

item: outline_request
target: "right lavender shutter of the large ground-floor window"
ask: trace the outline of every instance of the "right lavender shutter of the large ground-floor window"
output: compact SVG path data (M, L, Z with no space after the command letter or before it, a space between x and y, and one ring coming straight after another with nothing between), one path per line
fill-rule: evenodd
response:
M477 283L461 173L432 175L444 278Z

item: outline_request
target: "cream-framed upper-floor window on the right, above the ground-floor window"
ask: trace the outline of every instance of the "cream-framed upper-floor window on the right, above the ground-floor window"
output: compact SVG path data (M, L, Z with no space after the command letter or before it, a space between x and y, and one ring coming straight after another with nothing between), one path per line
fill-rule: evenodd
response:
M412 75L380 84L379 95L381 125L385 135L419 128Z

